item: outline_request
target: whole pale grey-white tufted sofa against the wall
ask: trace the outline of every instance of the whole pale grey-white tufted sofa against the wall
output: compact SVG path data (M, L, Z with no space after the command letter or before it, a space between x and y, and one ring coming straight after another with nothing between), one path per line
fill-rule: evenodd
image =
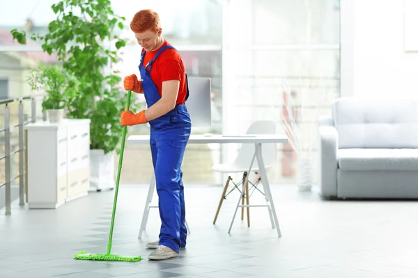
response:
M418 198L418 102L341 98L320 117L323 197Z

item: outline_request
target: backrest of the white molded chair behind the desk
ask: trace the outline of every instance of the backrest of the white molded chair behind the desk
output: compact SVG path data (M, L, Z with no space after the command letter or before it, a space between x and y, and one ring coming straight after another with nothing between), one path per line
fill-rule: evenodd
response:
M274 121L256 121L253 122L247 129L246 134L274 134L276 133L276 123ZM265 167L272 165L276 162L277 157L277 144L263 144L263 161ZM255 147L254 144L242 144L236 158L236 162L244 167L249 167L251 159L254 156ZM257 165L257 160L254 158L254 165Z

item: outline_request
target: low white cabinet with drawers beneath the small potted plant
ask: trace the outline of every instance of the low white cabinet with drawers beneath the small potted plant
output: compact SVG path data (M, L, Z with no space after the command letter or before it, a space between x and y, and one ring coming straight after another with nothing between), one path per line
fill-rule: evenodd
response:
M90 187L90 120L27 124L29 208L57 208Z

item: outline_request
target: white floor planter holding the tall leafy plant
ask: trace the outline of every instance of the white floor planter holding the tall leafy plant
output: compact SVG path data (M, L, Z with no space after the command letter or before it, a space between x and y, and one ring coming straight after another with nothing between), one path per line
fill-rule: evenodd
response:
M113 189L115 187L114 154L104 154L102 149L90 150L90 190Z

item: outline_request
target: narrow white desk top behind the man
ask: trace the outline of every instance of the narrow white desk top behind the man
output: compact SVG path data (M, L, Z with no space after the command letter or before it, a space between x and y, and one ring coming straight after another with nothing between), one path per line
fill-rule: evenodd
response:
M126 140L128 144L148 144L150 142L149 135L132 135ZM242 135L229 136L214 134L212 136L191 135L189 144L211 144L211 143L286 143L288 138L285 134L259 134L259 135Z

